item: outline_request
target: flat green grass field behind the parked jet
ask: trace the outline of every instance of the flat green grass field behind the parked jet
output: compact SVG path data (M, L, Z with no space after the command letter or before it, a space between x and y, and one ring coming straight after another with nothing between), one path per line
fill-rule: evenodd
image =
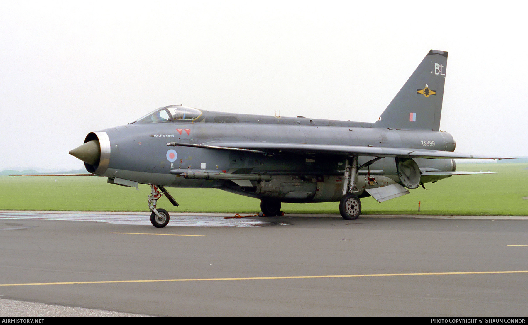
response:
M426 184L425 190L376 202L361 200L362 214L528 215L528 163L459 164L457 170L488 169L498 174L459 175ZM56 179L56 181L55 181ZM150 187L107 184L105 177L0 176L0 210L148 211ZM179 207L166 198L158 207L173 212L258 213L260 200L219 189L168 188ZM418 212L418 201L421 212ZM339 214L337 202L282 204L287 213Z

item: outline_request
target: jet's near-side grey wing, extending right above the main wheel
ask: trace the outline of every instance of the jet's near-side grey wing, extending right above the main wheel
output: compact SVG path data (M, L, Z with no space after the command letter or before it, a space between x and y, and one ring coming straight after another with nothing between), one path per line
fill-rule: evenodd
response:
M314 155L338 155L338 156L352 156L358 154L360 156L372 157L407 157L407 158L429 158L429 159L511 159L513 157L496 157L496 156L480 156L469 155L461 152L427 150L427 149L404 149L404 148L390 148L390 147L364 147L364 146L342 146L342 145L315 145L315 144L293 144L284 142L208 142L202 145L189 145L171 142L167 146L192 146L209 149L223 149L223 150L252 150L253 152L260 152L262 154L269 154L272 152L291 152L293 154Z

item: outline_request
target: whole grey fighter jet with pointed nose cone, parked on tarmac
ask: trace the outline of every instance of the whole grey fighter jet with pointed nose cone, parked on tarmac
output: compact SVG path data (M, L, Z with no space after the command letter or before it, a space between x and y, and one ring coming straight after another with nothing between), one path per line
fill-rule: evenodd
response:
M165 187L219 188L261 200L262 214L281 203L340 202L350 220L360 198L378 202L459 174L454 158L491 158L455 151L440 131L447 52L431 50L374 123L214 112L171 105L128 125L90 132L69 153L108 183L151 187L150 221ZM484 174L484 173L483 173Z

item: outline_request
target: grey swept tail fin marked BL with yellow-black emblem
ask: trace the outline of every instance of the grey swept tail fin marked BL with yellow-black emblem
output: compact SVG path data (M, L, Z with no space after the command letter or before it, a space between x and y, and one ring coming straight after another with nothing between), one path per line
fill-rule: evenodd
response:
M440 130L446 66L447 52L429 51L374 127Z

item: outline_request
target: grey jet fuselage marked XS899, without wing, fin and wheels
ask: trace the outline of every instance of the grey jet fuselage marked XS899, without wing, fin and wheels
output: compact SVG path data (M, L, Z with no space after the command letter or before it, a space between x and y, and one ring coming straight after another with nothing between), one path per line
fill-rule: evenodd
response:
M174 111L181 107L169 108L172 108L174 115ZM90 133L85 142L97 139L101 156L97 165L85 165L91 173L140 184L220 188L281 202L324 202L337 201L342 196L342 175L345 168L342 155L321 155L315 152L295 155L280 150L273 155L262 155L184 146L167 147L167 143L214 146L219 142L285 142L455 150L452 136L442 131L376 128L374 123L304 117L199 112L199 116L195 113L192 118L162 118L159 121L158 111L157 119L147 116L129 125ZM373 158L375 157L362 156L359 164ZM420 170L455 170L452 159L414 160ZM266 175L268 178L249 183L227 179L192 179L181 177L182 170ZM445 177L447 176L422 179L422 183ZM375 184L372 184L373 179ZM359 171L358 184L362 189L393 183L400 183L394 158L382 158L370 165L368 170L365 167ZM358 194L362 195L363 191Z

